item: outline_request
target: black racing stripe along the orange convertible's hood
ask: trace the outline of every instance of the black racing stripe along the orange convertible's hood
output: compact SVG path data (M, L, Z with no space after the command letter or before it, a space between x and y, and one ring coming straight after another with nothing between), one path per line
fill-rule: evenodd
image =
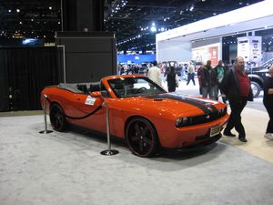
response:
M177 94L168 93L168 94L160 94L160 95L157 95L157 96L146 96L145 98L177 100L177 101L180 101L180 102L190 104L190 105L195 106L197 108L200 108L201 110L203 110L203 112L206 115L211 113L211 112L216 112L217 111L217 108L215 108L210 103L207 103L204 100L197 99L197 98L194 98L194 97L185 97L185 96L180 96L180 95L177 95Z

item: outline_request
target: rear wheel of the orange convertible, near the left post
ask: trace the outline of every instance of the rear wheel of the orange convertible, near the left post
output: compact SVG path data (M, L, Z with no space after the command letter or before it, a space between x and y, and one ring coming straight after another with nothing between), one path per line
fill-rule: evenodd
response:
M67 128L66 116L63 108L58 104L53 104L50 108L49 114L52 128L56 131L62 132Z

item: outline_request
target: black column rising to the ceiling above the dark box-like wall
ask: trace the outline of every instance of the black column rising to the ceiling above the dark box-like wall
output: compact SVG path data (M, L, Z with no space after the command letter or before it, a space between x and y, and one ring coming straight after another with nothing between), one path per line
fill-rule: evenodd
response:
M103 31L104 1L62 0L64 31Z

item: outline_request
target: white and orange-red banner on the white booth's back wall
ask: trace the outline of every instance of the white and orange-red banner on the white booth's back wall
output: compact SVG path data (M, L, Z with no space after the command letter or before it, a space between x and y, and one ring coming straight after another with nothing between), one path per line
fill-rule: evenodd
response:
M211 66L215 67L219 59L219 46L220 44L213 44L207 46L195 47L192 49L192 59L197 62L206 63L207 60L211 61Z

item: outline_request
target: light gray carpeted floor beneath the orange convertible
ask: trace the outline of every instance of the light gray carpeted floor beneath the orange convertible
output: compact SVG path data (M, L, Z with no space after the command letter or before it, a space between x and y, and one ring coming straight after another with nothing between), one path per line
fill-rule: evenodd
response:
M1 205L273 204L273 165L223 141L141 159L74 128L39 134L42 115L0 118Z

